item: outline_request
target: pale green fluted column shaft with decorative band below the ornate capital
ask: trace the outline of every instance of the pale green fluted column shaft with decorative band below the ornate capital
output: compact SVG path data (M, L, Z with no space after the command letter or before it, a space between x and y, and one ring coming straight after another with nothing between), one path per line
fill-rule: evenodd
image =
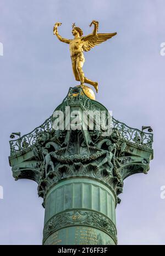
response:
M45 200L43 244L116 244L116 197L101 182L70 178Z

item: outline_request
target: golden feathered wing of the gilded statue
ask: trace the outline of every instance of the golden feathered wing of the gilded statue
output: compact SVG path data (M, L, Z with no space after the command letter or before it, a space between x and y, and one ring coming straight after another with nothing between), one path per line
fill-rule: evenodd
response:
M87 40L84 40L84 45L83 45L83 50L85 52L88 52L91 50L91 48L94 48L96 45L100 45L100 43L107 41L108 39L110 39L111 37L115 36L117 34L117 32L114 33L107 33L107 34L97 34L96 36L86 36L84 37Z

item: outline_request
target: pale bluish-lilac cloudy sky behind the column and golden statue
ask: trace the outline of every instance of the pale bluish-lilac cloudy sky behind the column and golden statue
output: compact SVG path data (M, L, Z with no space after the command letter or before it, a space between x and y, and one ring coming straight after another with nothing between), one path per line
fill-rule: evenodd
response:
M67 95L74 80L69 46L53 36L72 38L72 23L90 34L93 19L113 39L85 53L84 72L97 80L97 101L130 127L153 128L154 159L147 175L124 182L116 209L118 244L164 244L164 0L1 0L0 56L1 161L0 244L41 244L44 209L37 183L14 181L8 163L9 135L42 124ZM0 54L1 55L1 54Z

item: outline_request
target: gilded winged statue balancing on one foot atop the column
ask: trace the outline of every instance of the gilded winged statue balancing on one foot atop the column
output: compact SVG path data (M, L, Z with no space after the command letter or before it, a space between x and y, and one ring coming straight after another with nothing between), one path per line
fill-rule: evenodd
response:
M97 34L98 21L93 20L90 24L90 26L92 24L94 25L94 31L92 32L92 34L83 36L83 30L75 26L75 23L74 23L72 25L72 34L74 36L74 39L65 39L58 34L58 26L61 26L61 24L62 23L59 23L59 22L54 24L53 34L56 35L60 41L69 44L69 50L70 50L70 56L72 59L72 68L73 68L75 80L80 81L81 85L84 85L84 83L87 83L94 86L97 92L98 83L86 78L84 75L83 65L85 62L85 58L84 58L83 51L85 52L90 51L91 48L94 48L96 45L100 45L100 43L105 42L106 40L110 39L112 36L115 36L117 33L114 32L114 33L108 33L108 34L103 34L103 33Z

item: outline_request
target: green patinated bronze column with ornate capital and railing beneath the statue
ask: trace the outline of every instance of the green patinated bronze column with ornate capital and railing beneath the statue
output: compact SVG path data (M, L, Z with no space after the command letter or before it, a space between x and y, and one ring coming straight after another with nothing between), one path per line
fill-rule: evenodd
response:
M105 111L81 88L70 88L56 111ZM70 121L69 117L69 121ZM38 183L43 198L43 244L117 244L115 209L123 181L147 173L153 159L153 135L112 118L111 134L103 130L53 129L54 117L10 142L13 177ZM84 120L81 120L83 127ZM66 124L66 122L65 122Z

